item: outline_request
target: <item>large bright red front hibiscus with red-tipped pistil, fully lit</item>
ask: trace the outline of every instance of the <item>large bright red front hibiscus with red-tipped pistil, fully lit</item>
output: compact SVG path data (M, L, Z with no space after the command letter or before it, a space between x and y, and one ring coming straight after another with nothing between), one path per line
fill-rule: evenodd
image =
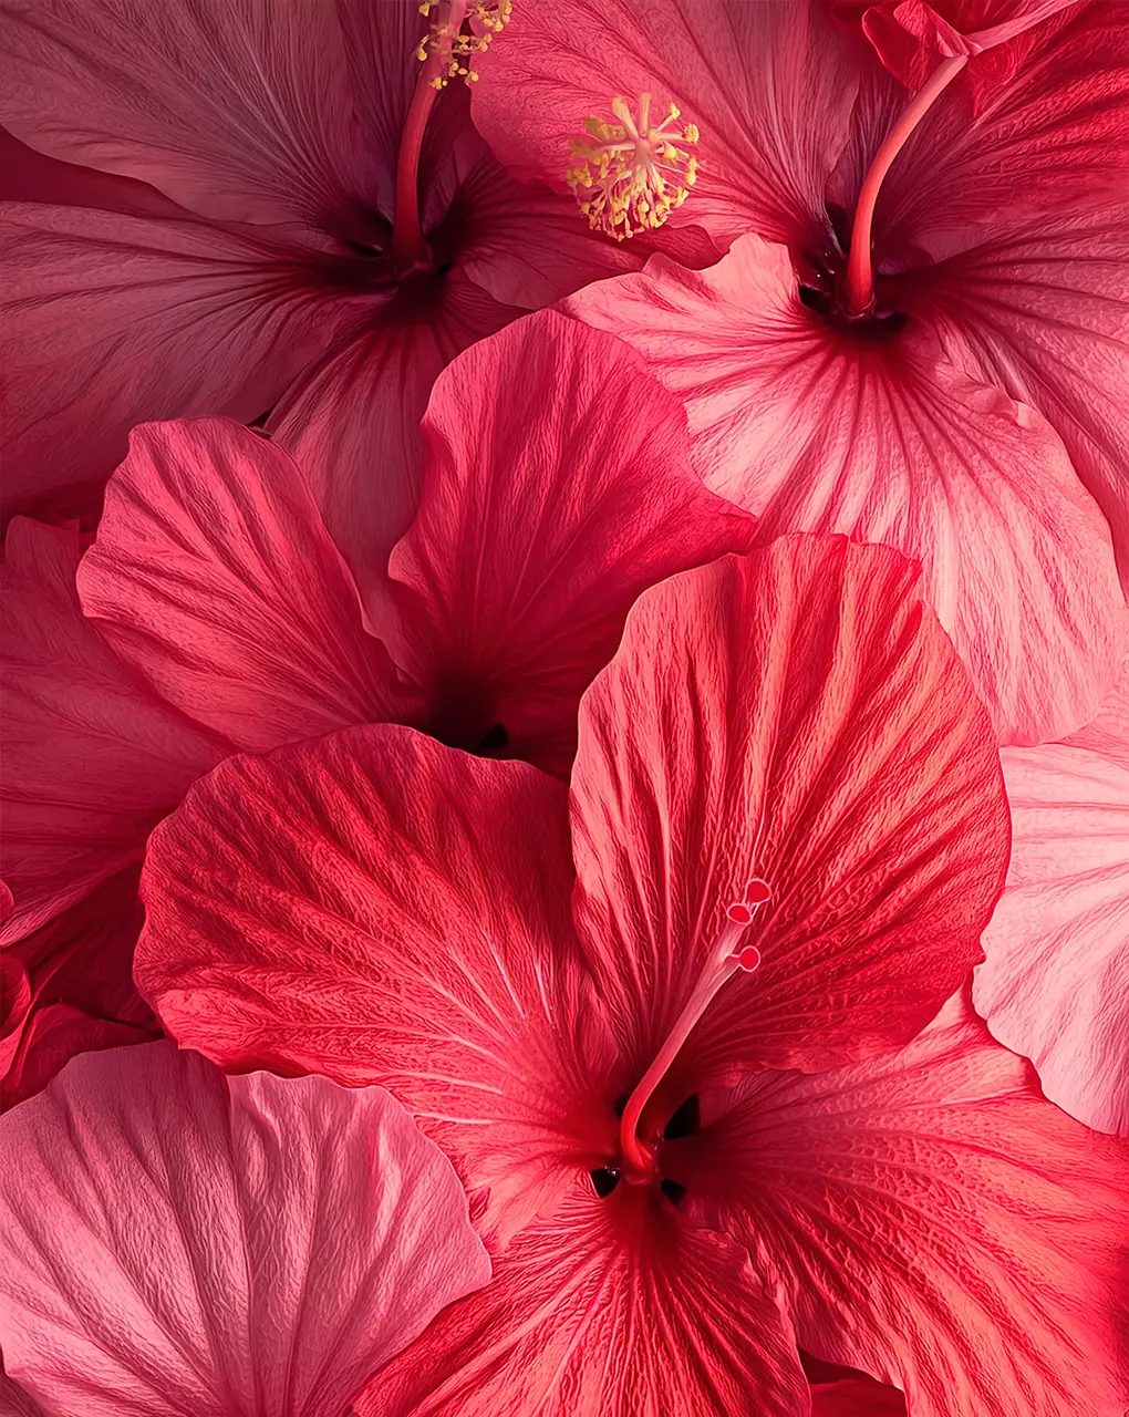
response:
M915 580L790 537L650 589L571 803L365 727L229 760L154 833L136 973L166 1026L380 1080L492 1247L361 1411L806 1414L798 1343L918 1417L1116 1393L1123 1152L960 1000L914 1039L1007 856Z

